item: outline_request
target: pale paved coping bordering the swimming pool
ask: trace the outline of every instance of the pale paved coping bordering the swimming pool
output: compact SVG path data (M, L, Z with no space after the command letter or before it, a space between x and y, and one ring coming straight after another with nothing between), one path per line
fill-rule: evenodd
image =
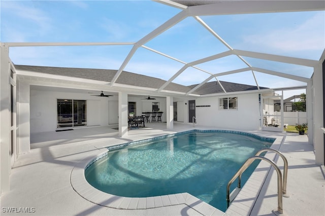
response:
M197 130L197 129L195 129ZM192 130L190 130L192 131ZM202 130L206 131L206 130ZM218 130L211 130L211 131L218 131ZM188 132L188 131L187 131ZM184 133L184 132L181 132ZM235 131L234 133L240 133L240 131ZM242 133L247 133L247 132L242 132ZM179 133L175 133L179 134ZM164 136L172 136L175 134L171 135L164 135ZM247 133L248 134L248 133ZM252 133L249 133L252 134ZM255 135L254 136L262 137L261 135ZM158 136L158 137L153 137L150 139L158 139L164 136ZM147 140L147 139L146 139ZM273 147L274 145L281 145L281 143L278 143L278 139L275 139L273 142ZM140 143L143 142L143 140L139 141L134 141L134 142L128 142L129 145L132 145L133 143ZM281 141L282 142L282 141ZM122 145L116 145L119 146L118 148L122 146L127 146L125 145L127 143L124 143ZM274 149L279 149L280 145L278 148ZM94 187L92 187L86 180L84 171L85 169L91 165L94 161L99 160L102 157L105 157L108 153L108 149L102 150L101 153L96 154L96 156L92 157L92 159L89 159L89 157L81 160L78 164L79 166L75 166L72 171L71 171L71 176L70 176L70 182L72 188L78 193L81 197L84 199L88 200L89 202L101 205L101 206L106 206L110 208L116 208L116 209L127 209L127 210L135 210L135 209L149 209L149 208L157 208L157 207L166 207L166 206L172 206L172 205L181 205L185 204L189 206L190 208L198 211L199 213L203 215L224 215L224 214L229 214L229 215L238 215L238 214L246 214L244 212L250 212L253 203L254 202L249 202L249 203L241 203L239 200L244 196L245 199L247 200L247 196L253 196L257 197L259 190L261 190L263 186L264 179L267 176L267 172L265 173L255 173L256 169L265 169L266 166L267 168L270 169L269 165L266 165L263 163L259 163L259 165L256 167L252 175L249 177L247 180L246 184L244 187L242 187L241 191L235 198L235 200L232 202L230 207L225 211L221 211L210 204L200 200L197 197L192 196L189 193L179 193L179 194L170 194L170 195L163 195L163 196L155 196L155 197L143 197L143 198L130 198L130 197L121 197L121 196L116 196L112 194L108 194L105 192L102 192ZM265 157L268 157L269 159L273 160L274 159L274 154L273 153L267 153ZM262 165L261 165L262 164ZM261 166L261 167L260 167ZM256 183L261 183L260 185ZM250 199L249 199L250 200ZM254 201L254 200L250 200Z

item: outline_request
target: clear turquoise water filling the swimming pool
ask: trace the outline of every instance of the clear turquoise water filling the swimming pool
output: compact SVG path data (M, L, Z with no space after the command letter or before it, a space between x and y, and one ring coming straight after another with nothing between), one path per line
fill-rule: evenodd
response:
M232 176L248 157L271 145L272 141L242 134L191 131L110 150L85 170L85 176L90 185L109 194L151 197L187 192L225 211L226 185ZM258 162L243 173L242 185Z

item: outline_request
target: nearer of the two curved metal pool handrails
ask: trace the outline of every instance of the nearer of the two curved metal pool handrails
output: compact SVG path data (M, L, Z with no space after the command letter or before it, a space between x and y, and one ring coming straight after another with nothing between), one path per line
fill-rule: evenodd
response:
M229 203L230 203L230 186L231 184L235 181L235 179L241 175L248 167L249 165L256 159L259 160L264 160L269 162L276 170L277 174L278 174L278 212L280 214L283 213L283 208L282 208L282 173L279 169L279 167L274 163L274 161L265 158L263 156L252 156L250 158L248 158L245 163L240 167L240 169L236 172L236 174L232 177L232 179L229 181L228 185L227 185L227 197L226 197L226 201L227 201L227 207L229 207Z

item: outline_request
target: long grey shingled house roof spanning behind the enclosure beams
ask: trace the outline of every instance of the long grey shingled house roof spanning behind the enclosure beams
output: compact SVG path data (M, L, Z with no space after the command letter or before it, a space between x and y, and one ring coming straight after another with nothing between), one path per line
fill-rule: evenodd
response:
M49 66L31 66L31 65L15 65L15 67L18 70L26 70L26 71L33 71L37 73L59 75L59 76L66 76L66 77L76 77L76 78L83 78L88 80L96 80L96 81L104 81L104 82L111 82L115 74L117 73L117 70L113 70L113 69L49 67ZM164 85L166 81L154 77L122 71L116 83L156 89ZM251 86L251 85L244 85L244 84L224 82L224 81L220 81L220 83L226 92L257 90L256 86ZM199 84L191 85L191 86L183 86L176 83L170 83L165 88L165 90L186 93L198 85ZM259 87L259 88L267 89L265 87ZM192 93L204 95L204 94L213 94L213 93L223 93L223 90L220 87L220 85L216 84L216 82L208 82L202 85L200 88L193 91Z

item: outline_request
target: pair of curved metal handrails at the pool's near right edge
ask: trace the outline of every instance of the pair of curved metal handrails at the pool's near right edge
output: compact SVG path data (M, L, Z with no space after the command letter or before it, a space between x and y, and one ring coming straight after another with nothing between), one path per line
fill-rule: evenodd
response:
M276 154L278 154L282 159L283 159L283 183L282 183L282 173L281 170L279 169L279 167L275 164L274 161L260 156L263 152L268 152L268 151L272 151L275 152ZM239 170L236 172L236 174L232 177L232 179L229 181L228 185L227 185L227 194L226 194L226 201L227 201L227 208L230 205L230 202L232 202L235 197L237 196L237 194L239 193L240 189L241 189L241 176L242 173L255 161L255 160L264 160L269 162L276 170L277 175L278 175L278 208L277 210L273 210L272 212L276 215L280 215L283 214L283 205L282 205L282 196L283 197L289 197L286 194L286 183L287 183L287 173L288 173L288 161L287 159L284 157L284 155L275 150L275 149L262 149L259 150L255 156L252 156L250 158L248 158L245 163L239 168ZM238 186L237 188L230 194L230 186L231 184L233 184L233 182L235 181L235 179L238 177Z

